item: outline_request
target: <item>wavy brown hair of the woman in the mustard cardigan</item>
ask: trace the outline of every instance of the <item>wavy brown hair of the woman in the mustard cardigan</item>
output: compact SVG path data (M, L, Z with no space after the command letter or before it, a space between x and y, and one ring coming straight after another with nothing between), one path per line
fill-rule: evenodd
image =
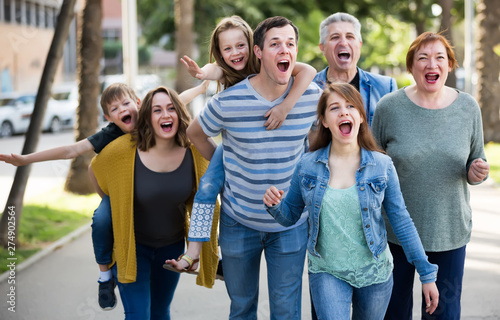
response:
M141 108L139 109L137 126L132 132L132 139L137 143L137 148L141 151L148 151L156 145L153 124L151 123L151 113L153 109L153 97L155 94L161 92L169 96L179 118L179 127L175 134L175 142L183 148L187 148L191 145L186 133L187 127L189 123L191 123L191 116L186 106L182 103L175 90L160 86L150 90L148 94L146 94L146 97L144 97Z

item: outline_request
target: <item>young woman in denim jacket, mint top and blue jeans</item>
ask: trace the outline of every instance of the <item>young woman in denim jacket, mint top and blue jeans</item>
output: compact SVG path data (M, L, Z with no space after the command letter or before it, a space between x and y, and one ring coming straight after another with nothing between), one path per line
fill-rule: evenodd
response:
M410 218L390 157L370 133L363 102L349 84L325 88L319 129L290 189L272 186L267 211L284 226L309 212L309 285L318 319L383 319L392 291L392 256L382 207L422 282L426 312L438 305L430 264Z

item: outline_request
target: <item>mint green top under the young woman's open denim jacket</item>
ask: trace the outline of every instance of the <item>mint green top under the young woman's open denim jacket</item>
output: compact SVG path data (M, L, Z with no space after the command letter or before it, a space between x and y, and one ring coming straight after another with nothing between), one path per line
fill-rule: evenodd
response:
M327 187L316 251L321 258L308 254L309 272L330 273L356 288L387 281L393 269L389 247L377 261L366 244L356 185L347 189Z

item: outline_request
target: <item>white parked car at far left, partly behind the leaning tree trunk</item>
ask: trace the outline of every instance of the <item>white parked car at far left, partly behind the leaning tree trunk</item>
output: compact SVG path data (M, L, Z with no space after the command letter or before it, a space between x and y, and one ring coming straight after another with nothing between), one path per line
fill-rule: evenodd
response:
M0 137L28 131L35 99L34 93L7 93L0 96ZM72 127L74 118L75 111L71 107L49 98L42 130L59 132L64 127Z

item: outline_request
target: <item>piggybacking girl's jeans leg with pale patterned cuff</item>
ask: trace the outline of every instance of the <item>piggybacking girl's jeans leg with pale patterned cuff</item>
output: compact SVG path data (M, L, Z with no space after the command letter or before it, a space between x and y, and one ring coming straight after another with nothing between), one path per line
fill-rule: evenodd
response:
M189 241L210 241L217 195L224 186L224 164L222 144L215 149L207 171L200 179L198 191L194 197Z

